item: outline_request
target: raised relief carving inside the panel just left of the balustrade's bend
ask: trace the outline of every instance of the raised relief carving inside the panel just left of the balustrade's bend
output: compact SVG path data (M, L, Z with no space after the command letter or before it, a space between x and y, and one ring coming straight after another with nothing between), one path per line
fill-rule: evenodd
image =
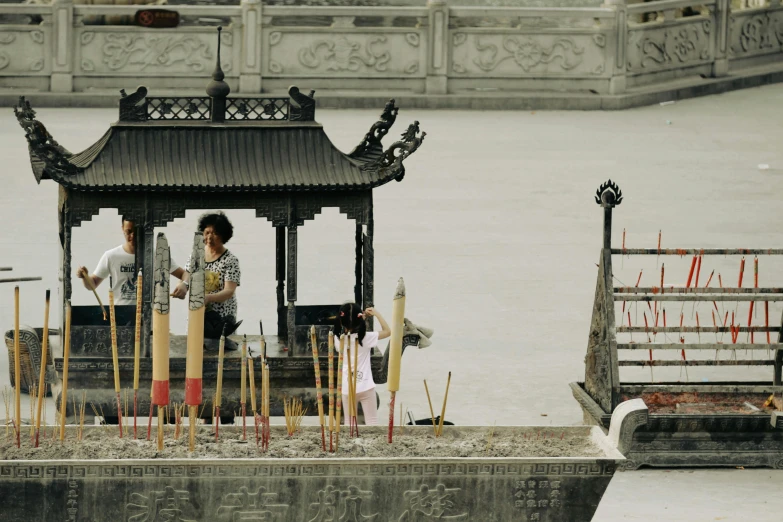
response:
M479 56L473 63L484 72L491 72L508 61L513 60L524 72L530 72L541 64L556 63L561 69L570 71L582 63L585 52L569 37L557 38L551 45L542 45L531 37L507 36L503 38L503 49L508 53L501 56L497 45L488 43L481 38L475 40Z

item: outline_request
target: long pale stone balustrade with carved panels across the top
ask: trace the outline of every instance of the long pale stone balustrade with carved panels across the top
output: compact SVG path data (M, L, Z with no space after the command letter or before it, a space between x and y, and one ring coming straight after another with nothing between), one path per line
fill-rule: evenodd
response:
M166 7L166 6L156 6ZM223 24L235 93L622 94L779 62L780 0L606 0L601 7L169 6L171 29L90 25L143 6L0 4L0 85L98 92L202 91ZM20 23L24 15L30 23ZM11 22L9 22L9 20Z

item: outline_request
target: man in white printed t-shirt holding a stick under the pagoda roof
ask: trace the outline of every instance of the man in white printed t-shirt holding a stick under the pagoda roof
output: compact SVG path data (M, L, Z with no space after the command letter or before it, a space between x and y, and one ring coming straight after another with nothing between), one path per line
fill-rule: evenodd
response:
M136 305L136 241L135 241L135 223L125 218L122 219L122 233L125 235L125 242L116 248L107 250L98 261L98 266L93 274L89 274L86 267L79 267L76 275L84 283L87 290L92 290L87 283L86 277L92 279L93 285L97 288L104 279L111 276L112 291L114 292L114 304ZM174 261L171 260L171 275L177 279L182 279L185 271ZM150 276L152 273L150 272Z

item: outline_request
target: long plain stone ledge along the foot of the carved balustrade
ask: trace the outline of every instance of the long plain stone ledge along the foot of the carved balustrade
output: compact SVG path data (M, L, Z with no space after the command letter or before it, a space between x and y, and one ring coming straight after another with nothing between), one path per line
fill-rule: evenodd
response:
M390 97L405 109L466 109L466 110L622 110L666 101L678 101L699 96L721 94L738 89L760 87L783 82L783 64L753 67L721 78L686 78L653 86L630 89L624 94L591 94L567 92L476 92L457 94L410 94L389 92L316 93L319 109L378 109ZM303 84L304 85L304 84ZM306 87L306 85L305 85ZM202 91L161 90L154 96L203 96ZM76 93L35 92L22 89L0 90L0 104L15 106L19 96L26 96L34 107L115 108L119 93L93 91ZM269 97L242 94L243 97Z

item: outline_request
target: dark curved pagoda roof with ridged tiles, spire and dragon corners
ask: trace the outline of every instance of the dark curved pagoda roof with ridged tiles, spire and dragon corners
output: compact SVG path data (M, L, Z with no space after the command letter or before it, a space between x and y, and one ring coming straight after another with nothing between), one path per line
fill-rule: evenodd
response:
M218 58L219 63L219 58ZM215 88L218 85L220 88ZM394 100L350 153L315 121L314 91L288 98L228 98L219 66L208 97L148 97L120 91L120 117L96 143L71 153L57 143L21 97L33 173L78 191L346 191L402 180L403 160L426 133L418 122L384 150L397 117Z

